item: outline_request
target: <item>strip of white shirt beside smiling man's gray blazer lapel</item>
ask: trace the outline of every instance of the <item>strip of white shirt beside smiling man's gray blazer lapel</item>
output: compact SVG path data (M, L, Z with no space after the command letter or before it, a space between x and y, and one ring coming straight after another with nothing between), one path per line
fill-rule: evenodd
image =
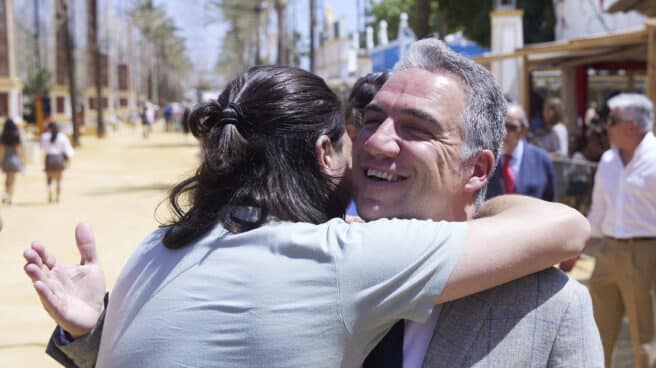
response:
M437 319L440 317L442 305L433 307L433 312L424 323L404 321L403 330L403 368L421 368L428 345L435 333Z

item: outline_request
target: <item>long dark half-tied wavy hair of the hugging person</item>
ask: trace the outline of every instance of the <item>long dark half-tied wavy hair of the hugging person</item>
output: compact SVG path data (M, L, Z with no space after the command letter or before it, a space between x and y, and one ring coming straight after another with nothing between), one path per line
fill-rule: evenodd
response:
M292 67L250 68L216 101L196 106L189 128L202 142L202 162L171 190L176 219L166 247L184 247L217 222L239 233L267 218L343 216L350 193L320 170L315 154L321 135L340 150L344 134L339 99L321 78Z

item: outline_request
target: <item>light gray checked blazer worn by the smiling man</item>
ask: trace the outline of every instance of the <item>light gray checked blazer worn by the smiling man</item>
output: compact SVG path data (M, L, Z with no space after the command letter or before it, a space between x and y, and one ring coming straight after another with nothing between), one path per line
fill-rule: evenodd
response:
M445 303L423 366L603 367L590 294L549 268Z

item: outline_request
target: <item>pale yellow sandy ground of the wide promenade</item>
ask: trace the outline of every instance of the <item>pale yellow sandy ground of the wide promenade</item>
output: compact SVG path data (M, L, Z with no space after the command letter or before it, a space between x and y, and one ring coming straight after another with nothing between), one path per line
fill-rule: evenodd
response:
M167 219L166 206L156 208L167 189L194 170L198 146L192 137L177 133L156 129L147 140L140 133L128 126L103 140L84 136L64 173L57 204L47 203L42 158L30 155L17 178L14 205L0 207L1 367L58 366L44 354L53 323L23 273L21 254L32 240L43 241L64 262L77 262L74 227L90 222L111 289L134 247L158 219ZM585 282L593 267L593 259L585 258L572 275ZM632 366L626 328L616 355L616 367Z

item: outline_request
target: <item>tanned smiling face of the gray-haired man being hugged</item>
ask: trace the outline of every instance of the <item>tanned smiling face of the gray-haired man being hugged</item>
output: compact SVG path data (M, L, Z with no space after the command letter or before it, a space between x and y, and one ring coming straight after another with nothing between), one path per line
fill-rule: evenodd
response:
M449 72L392 74L367 106L353 146L362 218L466 217L460 132L465 104L461 82Z

